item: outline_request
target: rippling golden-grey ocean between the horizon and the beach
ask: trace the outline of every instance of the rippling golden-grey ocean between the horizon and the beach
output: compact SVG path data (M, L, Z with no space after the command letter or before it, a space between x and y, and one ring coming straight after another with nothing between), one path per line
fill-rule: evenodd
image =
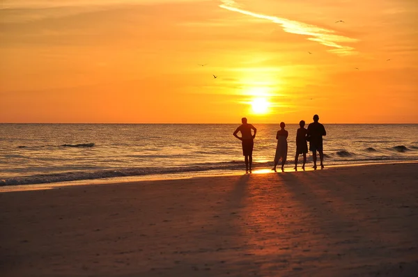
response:
M0 124L0 185L241 172L241 144L232 135L238 126ZM253 168L271 168L280 127L254 126ZM298 127L286 125L288 168L294 166ZM325 124L325 129L325 166L418 160L416 124Z

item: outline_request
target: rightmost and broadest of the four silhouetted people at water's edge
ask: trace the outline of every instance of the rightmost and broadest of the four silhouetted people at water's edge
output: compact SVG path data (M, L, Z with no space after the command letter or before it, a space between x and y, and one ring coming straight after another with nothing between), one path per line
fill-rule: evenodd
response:
M309 124L307 130L307 139L309 141L309 150L312 151L312 157L314 158L314 168L316 169L316 151L319 152L320 158L320 168L324 168L323 160L324 160L324 153L323 153L323 136L327 135L325 132L324 125L318 122L319 116L316 114L314 116L314 122Z

